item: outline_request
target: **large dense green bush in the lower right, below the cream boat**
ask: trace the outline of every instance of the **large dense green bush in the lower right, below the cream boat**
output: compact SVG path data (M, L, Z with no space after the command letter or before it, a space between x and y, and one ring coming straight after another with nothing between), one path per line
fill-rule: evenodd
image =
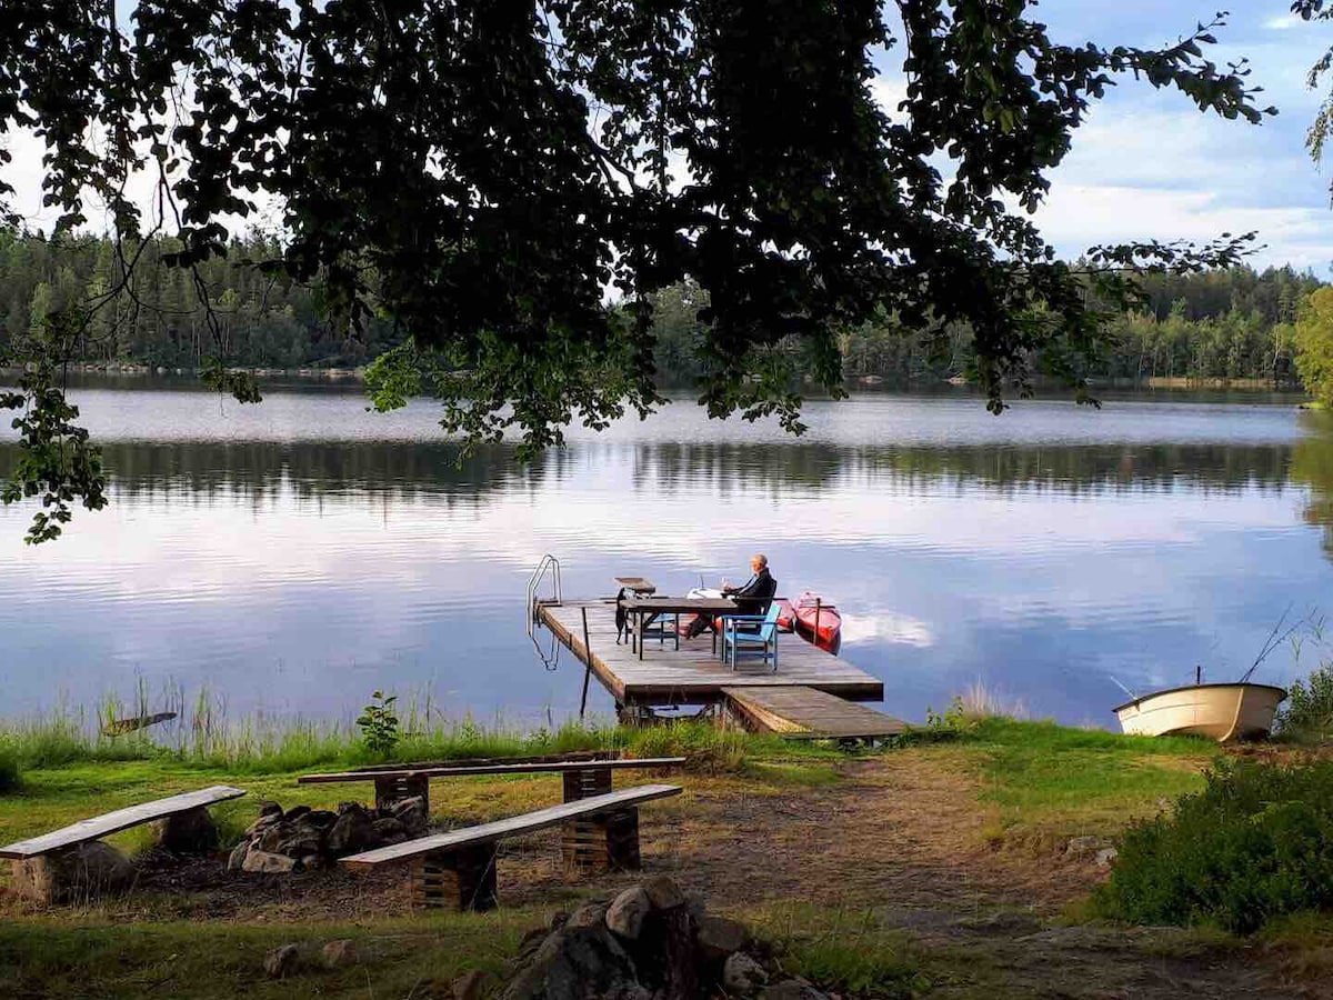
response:
M1205 780L1174 815L1130 828L1096 909L1250 933L1284 913L1333 908L1333 761L1218 761Z

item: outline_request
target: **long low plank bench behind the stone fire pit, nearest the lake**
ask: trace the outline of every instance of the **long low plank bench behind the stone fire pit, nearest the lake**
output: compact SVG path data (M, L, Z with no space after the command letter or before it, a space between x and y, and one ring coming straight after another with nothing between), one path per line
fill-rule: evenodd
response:
M611 791L613 771L670 768L685 763L685 757L616 757L609 760L545 760L539 763L493 761L485 764L445 764L400 769L343 771L329 775L301 775L297 784L328 784L335 781L373 781L375 805L387 808L403 799L420 796L427 812L431 809L432 777L469 777L473 775L541 775L560 772L564 776L565 801L587 799Z

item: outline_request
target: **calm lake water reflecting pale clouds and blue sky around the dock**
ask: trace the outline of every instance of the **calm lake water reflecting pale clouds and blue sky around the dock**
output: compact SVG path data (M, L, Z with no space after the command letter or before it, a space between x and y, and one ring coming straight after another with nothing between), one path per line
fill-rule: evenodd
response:
M997 419L972 396L874 395L810 403L802 439L677 403L524 471L507 447L457 468L435 405L367 413L355 389L75 397L112 504L41 547L21 541L31 508L0 508L8 716L143 683L207 687L231 715L347 717L384 688L560 721L583 673L568 653L545 669L524 628L544 552L583 596L615 575L742 579L761 549L781 592L837 603L842 656L914 720L980 679L1113 727L1120 685L1233 679L1285 608L1333 612L1333 424L1290 401ZM0 473L13 460L0 441ZM1256 680L1312 653L1282 648Z

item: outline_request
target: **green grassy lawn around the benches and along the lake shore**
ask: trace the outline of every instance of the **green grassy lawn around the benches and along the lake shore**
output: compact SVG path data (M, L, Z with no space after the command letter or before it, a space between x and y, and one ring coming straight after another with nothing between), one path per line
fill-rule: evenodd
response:
M938 733L933 733L937 736ZM568 741L579 743L577 740ZM762 801L780 796L790 808L802 796L837 796L858 768L893 768L896 761L924 767L944 780L965 780L956 808L988 813L994 821L982 839L1042 855L1062 837L1113 835L1133 816L1157 811L1164 797L1200 787L1200 769L1216 748L1196 740L1126 739L1106 732L1068 729L1049 723L984 720L952 739L925 739L906 747L846 753L832 745L784 743L718 735L701 727L672 727L639 733L607 731L583 747L627 745L640 756L688 752L692 765L673 776L685 795L659 805L670 819L697 817L717 801ZM580 748L583 748L580 747ZM301 755L296 767L277 768L263 759L224 761L191 755L64 753L65 763L23 761L21 784L0 793L0 843L33 836L79 819L137 801L209 784L235 784L248 795L213 809L228 839L235 840L255 815L256 801L284 807L333 808L339 801L373 799L365 784L299 785L312 767L328 769L364 763L364 753L344 744L323 755ZM423 747L401 748L424 759ZM436 747L439 749L439 747ZM532 743L488 751L540 752ZM329 759L332 755L332 759ZM140 757L140 759L115 759ZM308 763L308 756L319 760ZM445 756L445 755L437 755ZM452 756L459 756L457 753ZM49 755L59 760L60 755ZM283 760L291 763L291 756ZM623 780L617 780L621 784ZM559 776L475 777L436 783L432 820L463 825L497 819L559 801ZM910 801L902 803L906 809ZM726 836L725 831L717 831ZM136 851L147 847L147 828L112 839ZM761 849L756 845L756 849ZM885 845L886 856L893 853ZM0 889L8 884L0 872ZM91 908L52 908L20 913L0 895L0 983L16 996L451 996L449 981L461 972L501 971L519 939L549 912L592 889L569 892L544 905L505 907L491 915L425 916L359 915L355 921L311 919L283 909L244 919L181 919L169 900L152 893L129 903ZM734 907L732 909L736 909ZM982 983L981 965L962 963L948 949L925 953L901 929L885 924L877 907L834 909L793 899L782 905L741 908L742 916L782 953L784 967L816 981L841 983L853 995L917 996L944 991L969 996L968 984ZM332 917L339 917L333 913ZM1312 931L1306 931L1313 936ZM331 940L356 941L357 964L323 969L319 948ZM1322 939L1321 939L1322 940ZM296 981L271 983L264 953L296 941L308 952L307 973ZM1002 977L1002 971L997 972ZM978 979L978 976L981 979ZM990 987L978 985L978 996Z

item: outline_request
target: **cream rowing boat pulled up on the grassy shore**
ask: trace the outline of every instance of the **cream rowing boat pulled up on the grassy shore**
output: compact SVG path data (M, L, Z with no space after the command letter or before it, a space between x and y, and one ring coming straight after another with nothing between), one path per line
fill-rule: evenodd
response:
M1285 697L1282 688L1269 684L1193 684L1144 695L1114 711L1130 735L1192 735L1226 743L1268 736Z

